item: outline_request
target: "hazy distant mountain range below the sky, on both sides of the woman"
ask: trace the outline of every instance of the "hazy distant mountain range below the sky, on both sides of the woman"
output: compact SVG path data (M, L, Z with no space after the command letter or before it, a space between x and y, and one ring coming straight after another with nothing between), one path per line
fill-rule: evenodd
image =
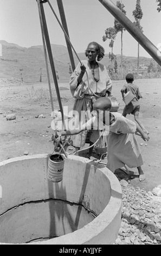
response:
M42 82L47 82L46 63L44 60L43 45L31 46L29 48L0 40L2 45L2 56L0 56L0 77L15 77L23 79L23 82L39 82L42 72ZM58 82L68 82L69 74L69 54L66 46L51 44L51 50L54 58L54 65ZM79 63L78 58L73 52L75 65ZM85 53L78 53L81 60L86 59ZM118 66L121 56L117 55ZM140 64L149 65L151 58L140 57ZM123 56L124 66L133 70L137 66L137 57ZM100 61L106 68L110 64L108 54ZM49 65L50 80L53 82L53 75Z

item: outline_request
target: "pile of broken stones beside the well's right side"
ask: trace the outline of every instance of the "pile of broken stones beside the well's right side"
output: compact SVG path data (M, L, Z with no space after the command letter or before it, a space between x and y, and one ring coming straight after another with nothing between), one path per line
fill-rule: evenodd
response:
M161 245L161 197L120 181L121 227L115 245Z

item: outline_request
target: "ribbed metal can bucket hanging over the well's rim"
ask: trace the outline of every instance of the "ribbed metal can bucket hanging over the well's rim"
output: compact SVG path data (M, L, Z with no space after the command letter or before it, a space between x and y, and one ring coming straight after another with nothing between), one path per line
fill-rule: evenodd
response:
M52 182L60 182L63 178L63 169L65 157L60 153L49 156L48 160L48 180Z

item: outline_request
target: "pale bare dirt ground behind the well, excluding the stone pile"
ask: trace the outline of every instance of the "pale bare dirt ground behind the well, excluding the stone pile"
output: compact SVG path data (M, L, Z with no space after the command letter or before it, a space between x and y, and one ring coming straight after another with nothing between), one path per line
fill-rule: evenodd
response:
M154 187L161 184L161 79L147 79L135 81L143 96L140 100L139 118L144 126L150 132L149 142L144 142L137 136L143 155L143 170L146 174L146 180L140 182L136 168L129 169L130 175L124 172L118 172L120 179L128 179L134 187L145 188L146 191L152 191ZM121 99L120 89L125 81L113 81L112 94L120 102L119 112L123 112L124 102ZM54 84L51 84L55 90ZM74 99L69 90L68 83L59 83L59 87L65 87L66 90L60 90L62 105L68 106L72 110ZM32 91L33 90L33 91ZM31 92L48 90L48 84L22 84L18 81L12 81L7 78L0 78L0 161L5 161L12 157L35 154L53 153L53 142L51 141L52 129L51 121L51 103L48 100L34 101L31 99ZM59 103L54 97L54 109L59 109ZM15 113L15 120L7 120L6 115ZM44 118L36 118L43 114ZM127 115L127 118L134 120L133 115ZM88 147L89 144L86 144ZM85 148L86 148L85 147ZM74 153L74 148L69 146L67 151ZM100 159L100 155L105 150L96 148L94 157ZM87 150L81 151L81 156L86 157ZM106 162L105 158L102 160Z

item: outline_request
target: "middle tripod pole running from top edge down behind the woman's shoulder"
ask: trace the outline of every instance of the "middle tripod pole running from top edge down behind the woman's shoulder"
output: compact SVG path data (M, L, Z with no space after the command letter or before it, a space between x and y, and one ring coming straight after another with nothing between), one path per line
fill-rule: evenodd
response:
M69 32L68 32L68 27L67 27L67 22L66 22L66 16L65 16L65 10L63 8L63 3L62 3L62 0L57 0L57 6L59 8L59 13L60 13L60 17L61 17L61 22L62 22L62 26L63 28L65 29L67 35L68 35L68 38L69 38ZM72 52L72 47L70 46L66 36L65 36L65 39L66 39L66 44L67 44L67 48L68 48L68 53L69 53L69 58L70 58L70 63L71 63L71 66L72 66L72 70L74 71L75 70L75 63L74 63L74 57L73 57L73 52Z

